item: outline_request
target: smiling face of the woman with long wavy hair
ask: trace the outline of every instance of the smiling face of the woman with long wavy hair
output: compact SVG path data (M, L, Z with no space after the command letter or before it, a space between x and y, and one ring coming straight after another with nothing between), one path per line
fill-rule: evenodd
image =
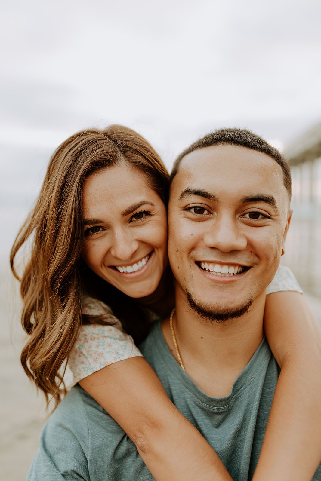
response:
M82 197L83 258L130 297L152 294L167 266L167 213L147 177L128 165L88 177Z

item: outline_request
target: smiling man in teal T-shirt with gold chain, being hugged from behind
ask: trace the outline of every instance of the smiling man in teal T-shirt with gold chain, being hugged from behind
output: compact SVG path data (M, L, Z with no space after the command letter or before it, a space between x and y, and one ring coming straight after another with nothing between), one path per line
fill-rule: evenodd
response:
M279 375L263 311L291 218L289 167L252 133L225 129L183 152L171 182L176 312L141 351L231 477L251 479ZM78 386L45 426L33 469L37 479L152 479L124 431Z

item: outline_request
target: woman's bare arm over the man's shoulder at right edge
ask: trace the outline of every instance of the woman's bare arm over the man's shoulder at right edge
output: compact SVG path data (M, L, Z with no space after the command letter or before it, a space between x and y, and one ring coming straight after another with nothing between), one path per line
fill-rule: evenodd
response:
M264 327L281 373L253 481L309 481L321 461L321 330L289 291L267 296Z

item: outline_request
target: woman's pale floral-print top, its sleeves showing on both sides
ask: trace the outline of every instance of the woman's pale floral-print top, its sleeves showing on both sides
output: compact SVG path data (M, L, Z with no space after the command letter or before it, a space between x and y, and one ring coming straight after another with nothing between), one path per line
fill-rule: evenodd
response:
M279 291L302 290L292 271L285 266L280 266L267 288L267 294ZM115 322L112 326L99 324L86 324L81 326L77 340L69 356L68 364L76 384L90 374L103 369L117 361L130 357L142 356L135 346L131 336L122 329L111 309L101 301L84 296L82 300L82 313L91 315L105 315L106 320Z

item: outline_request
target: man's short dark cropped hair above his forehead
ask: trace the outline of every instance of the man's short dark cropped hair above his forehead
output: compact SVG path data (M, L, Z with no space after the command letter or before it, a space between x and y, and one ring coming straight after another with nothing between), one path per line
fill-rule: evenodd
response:
M212 145L239 145L240 147L247 147L248 149L263 152L272 157L282 168L283 171L283 184L291 199L291 169L288 161L283 157L282 153L275 147L270 145L266 140L254 134L250 130L243 128L222 128L206 134L201 139L193 142L192 145L187 147L175 160L173 169L170 175L170 183L172 183L176 176L181 160L185 155L205 147L211 147Z

